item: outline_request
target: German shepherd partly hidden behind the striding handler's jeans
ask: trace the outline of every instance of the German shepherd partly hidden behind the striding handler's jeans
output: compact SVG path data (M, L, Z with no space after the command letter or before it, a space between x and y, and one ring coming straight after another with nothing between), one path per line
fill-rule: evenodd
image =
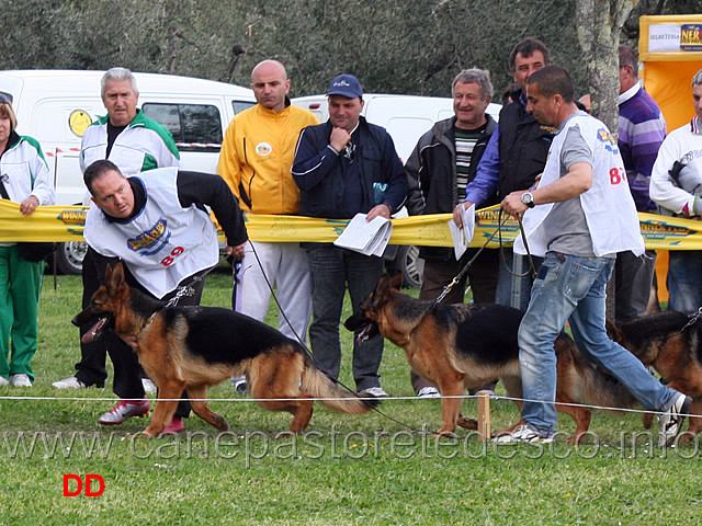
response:
M405 351L409 365L439 386L443 425L438 435L456 425L477 428L473 419L460 414L466 389L499 378L510 398L522 398L517 333L523 312L496 304L444 305L415 299L399 290L401 275L384 275L375 290L360 305L360 313L344 322L356 338L378 332ZM576 431L567 441L577 444L590 425L591 412L579 405L626 408L633 397L609 375L602 374L562 333L557 356L556 409L573 418ZM521 402L516 402L521 409ZM506 433L518 424L498 433Z

